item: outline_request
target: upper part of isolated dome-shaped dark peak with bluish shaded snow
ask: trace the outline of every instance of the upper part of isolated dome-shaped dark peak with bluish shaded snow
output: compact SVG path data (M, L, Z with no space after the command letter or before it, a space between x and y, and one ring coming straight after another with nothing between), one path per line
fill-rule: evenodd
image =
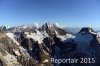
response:
M96 34L92 28L83 27L76 35L75 41L79 44L84 42L90 44L93 39L96 39Z

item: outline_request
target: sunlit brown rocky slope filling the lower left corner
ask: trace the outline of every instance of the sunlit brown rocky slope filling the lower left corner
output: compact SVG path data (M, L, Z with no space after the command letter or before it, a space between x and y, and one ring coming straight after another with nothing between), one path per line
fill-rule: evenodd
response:
M0 59L3 66L34 66L36 61L14 39L12 33L0 34Z

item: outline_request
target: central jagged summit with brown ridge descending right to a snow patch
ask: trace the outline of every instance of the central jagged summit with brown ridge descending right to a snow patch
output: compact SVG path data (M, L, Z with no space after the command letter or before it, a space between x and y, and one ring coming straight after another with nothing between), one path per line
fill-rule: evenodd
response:
M72 40L73 38L75 38L75 36L72 35L71 33L51 23L45 23L39 30L46 32L48 36L51 38L57 36L58 38L61 38L62 41L66 41L68 39Z

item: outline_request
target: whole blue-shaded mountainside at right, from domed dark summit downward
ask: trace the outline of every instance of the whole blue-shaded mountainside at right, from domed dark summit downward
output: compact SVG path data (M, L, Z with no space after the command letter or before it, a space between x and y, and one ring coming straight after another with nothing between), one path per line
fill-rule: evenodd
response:
M98 66L99 65L98 61L100 60L97 59L99 58L100 55L98 51L100 48L98 38L99 37L97 37L97 33L94 32L92 28L89 27L82 28L80 32L78 32L75 38L75 43L77 43L77 50L75 51L74 57L94 58L95 63L85 64L85 65Z

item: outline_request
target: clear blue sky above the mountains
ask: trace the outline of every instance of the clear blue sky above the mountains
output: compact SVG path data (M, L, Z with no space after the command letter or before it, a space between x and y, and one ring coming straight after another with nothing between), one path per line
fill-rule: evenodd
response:
M0 0L0 25L34 22L100 27L100 0Z

